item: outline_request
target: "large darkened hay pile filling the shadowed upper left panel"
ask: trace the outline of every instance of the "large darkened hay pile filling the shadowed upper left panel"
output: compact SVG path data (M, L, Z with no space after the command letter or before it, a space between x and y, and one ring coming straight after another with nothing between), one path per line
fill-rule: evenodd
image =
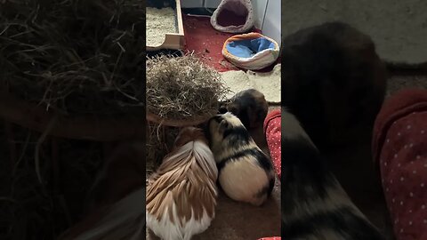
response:
M142 0L0 2L0 89L65 114L141 113Z

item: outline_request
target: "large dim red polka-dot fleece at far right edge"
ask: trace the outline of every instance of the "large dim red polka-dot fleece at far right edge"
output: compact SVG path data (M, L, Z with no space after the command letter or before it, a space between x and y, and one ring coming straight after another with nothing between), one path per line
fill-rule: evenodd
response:
M373 151L397 240L427 239L426 90L403 90L384 102Z

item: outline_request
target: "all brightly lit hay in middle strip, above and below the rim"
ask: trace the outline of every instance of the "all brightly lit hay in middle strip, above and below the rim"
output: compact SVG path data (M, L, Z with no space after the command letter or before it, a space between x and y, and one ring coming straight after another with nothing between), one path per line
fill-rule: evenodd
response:
M161 119L148 125L148 175L161 163L179 132L163 120L179 121L181 126L194 125L195 118L207 120L217 113L219 101L229 91L219 73L191 52L147 60L147 111Z

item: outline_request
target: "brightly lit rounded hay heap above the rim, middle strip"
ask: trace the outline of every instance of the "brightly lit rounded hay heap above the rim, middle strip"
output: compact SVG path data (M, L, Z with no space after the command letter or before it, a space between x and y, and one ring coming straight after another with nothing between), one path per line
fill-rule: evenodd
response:
M146 62L147 112L163 120L214 116L229 91L219 73L197 56L157 55Z

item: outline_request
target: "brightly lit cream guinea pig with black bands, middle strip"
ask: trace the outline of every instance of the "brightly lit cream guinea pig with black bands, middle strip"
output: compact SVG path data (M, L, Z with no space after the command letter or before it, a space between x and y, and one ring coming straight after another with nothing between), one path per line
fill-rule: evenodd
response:
M236 201L263 204L274 186L273 167L242 122L231 113L217 115L208 121L206 132L225 194Z

